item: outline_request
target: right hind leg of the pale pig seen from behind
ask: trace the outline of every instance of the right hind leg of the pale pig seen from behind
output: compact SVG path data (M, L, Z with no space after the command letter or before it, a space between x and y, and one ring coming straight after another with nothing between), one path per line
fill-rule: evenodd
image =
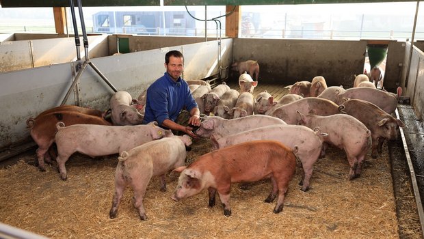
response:
M140 175L141 176L140 178L136 176L135 178L133 178L130 184L134 191L134 206L138 210L140 219L144 221L147 219L147 216L146 216L146 210L144 210L144 206L143 206L143 198L144 198L144 195L146 194L148 182L150 182L150 178L152 178L153 171L150 170L146 173L141 173L141 174L144 174L144 175Z

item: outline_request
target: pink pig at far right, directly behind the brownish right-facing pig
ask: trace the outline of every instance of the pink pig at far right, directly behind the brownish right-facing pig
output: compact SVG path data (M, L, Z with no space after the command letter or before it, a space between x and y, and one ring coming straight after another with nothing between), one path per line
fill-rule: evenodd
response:
M380 89L370 87L356 87L346 89L345 92L339 94L336 104L342 104L343 98L366 100L380 107L386 113L393 113L397 107L397 102L402 94L402 88L397 87L397 94L384 92Z

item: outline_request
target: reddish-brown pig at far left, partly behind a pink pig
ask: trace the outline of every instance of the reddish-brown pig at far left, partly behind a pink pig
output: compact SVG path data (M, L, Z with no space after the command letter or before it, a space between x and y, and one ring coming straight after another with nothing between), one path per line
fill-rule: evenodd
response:
M50 155L48 150L51 145L55 142L56 134L56 123L64 122L67 125L72 124L101 124L110 126L102 117L94 115L86 115L77 111L56 111L53 113L47 113L40 115L34 120L29 134L32 139L37 143L38 149L36 150L38 159L38 168L40 171L46 171L44 165L44 157L47 163L51 163Z

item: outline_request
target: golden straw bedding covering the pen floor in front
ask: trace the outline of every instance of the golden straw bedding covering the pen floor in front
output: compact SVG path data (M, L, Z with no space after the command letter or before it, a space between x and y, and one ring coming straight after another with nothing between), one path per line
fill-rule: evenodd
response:
M210 146L209 139L195 139L187 164ZM269 180L246 190L233 185L233 214L226 217L219 201L208 208L207 191L172 201L176 173L167 175L165 193L153 178L144 197L147 221L140 221L130 187L117 218L109 219L116 155L93 159L74 154L66 163L65 182L55 165L38 171L31 165L35 157L22 157L0 170L0 219L51 238L399 238L386 144L379 158L367 157L360 178L352 181L346 180L345 153L330 147L326 158L315 164L312 188L306 193L298 185L298 164L280 214L272 212L275 202L264 202L271 191Z

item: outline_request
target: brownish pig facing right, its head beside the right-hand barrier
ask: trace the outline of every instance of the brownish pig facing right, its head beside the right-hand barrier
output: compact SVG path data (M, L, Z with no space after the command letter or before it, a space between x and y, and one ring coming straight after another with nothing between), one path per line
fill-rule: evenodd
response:
M396 119L375 104L365 100L350 99L343 102L339 108L342 113L356 117L371 130L371 156L373 158L377 158L377 152L382 152L385 139L397 138L397 126L405 126L400 119Z

